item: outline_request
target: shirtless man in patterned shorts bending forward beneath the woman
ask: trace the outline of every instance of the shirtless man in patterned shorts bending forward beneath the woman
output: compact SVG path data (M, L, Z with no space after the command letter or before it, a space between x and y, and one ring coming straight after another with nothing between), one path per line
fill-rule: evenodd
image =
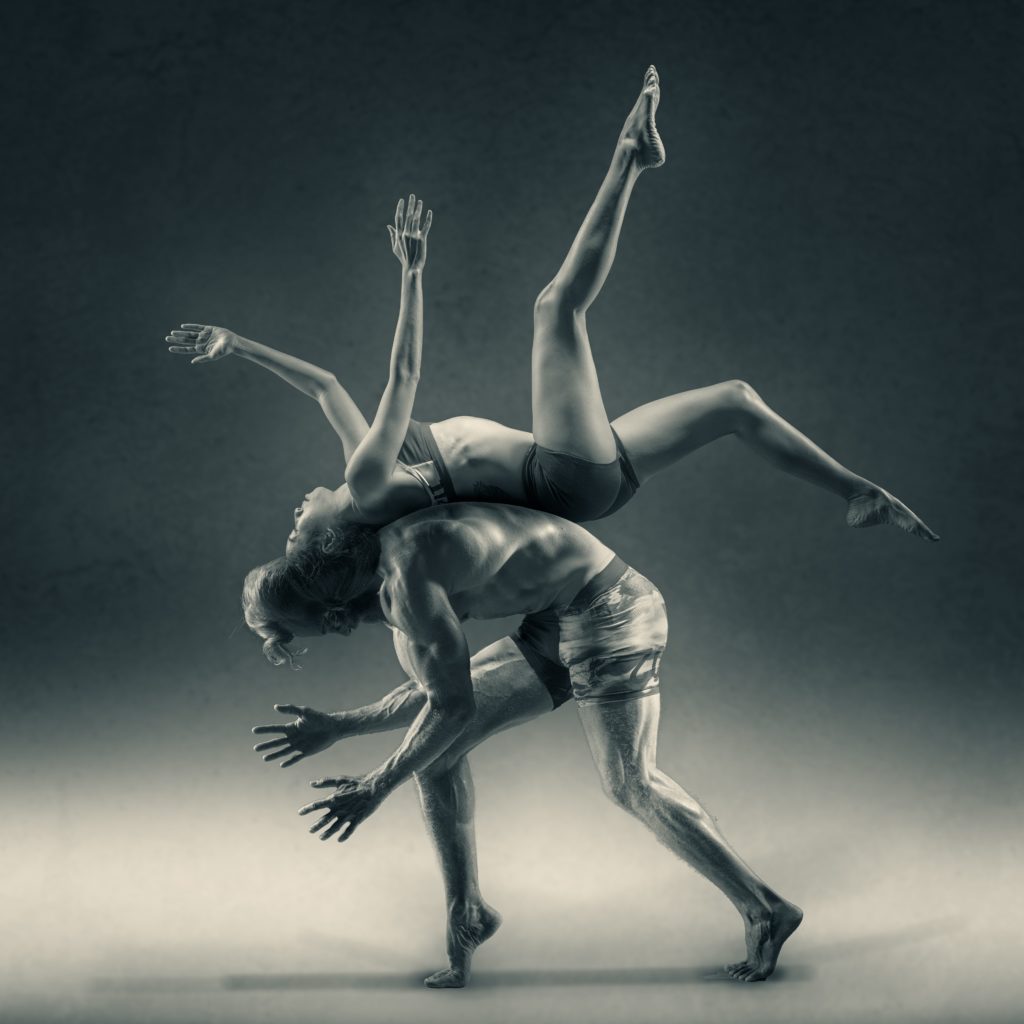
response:
M251 574L247 617L275 617L296 634L348 634L359 622L383 620L415 685L348 718L281 706L298 721L258 727L284 738L257 750L274 748L268 759L289 755L285 763L292 764L327 745L338 731L332 722L342 730L361 722L374 731L412 719L380 767L361 778L313 783L335 793L300 813L324 812L310 831L347 840L415 775L449 904L449 968L427 984L464 985L473 951L501 923L476 882L466 754L570 695L607 795L718 886L742 916L746 959L731 965L730 975L767 978L803 914L754 874L700 805L657 768L658 665L668 624L656 588L583 527L529 509L460 503L379 532L345 528L345 538L327 531L321 559L301 581L279 575L264 586ZM332 560L339 551L344 557ZM311 597L317 592L335 596ZM290 593L301 593L301 602ZM526 616L517 636L483 652L474 677L460 621L516 613Z

